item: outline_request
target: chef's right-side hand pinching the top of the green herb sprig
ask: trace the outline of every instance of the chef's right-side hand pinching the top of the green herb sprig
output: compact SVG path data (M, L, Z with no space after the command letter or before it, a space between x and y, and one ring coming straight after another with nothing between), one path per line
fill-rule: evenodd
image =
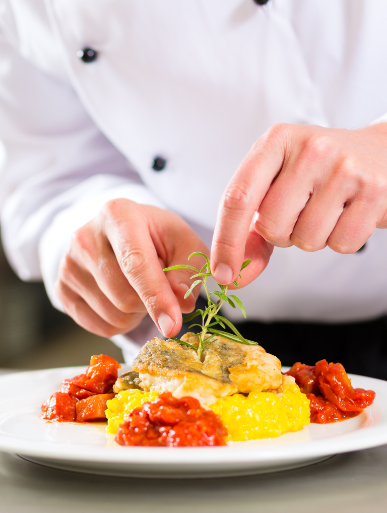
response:
M387 123L346 130L274 125L230 180L219 206L211 269L218 283L254 280L269 245L354 253L387 228Z

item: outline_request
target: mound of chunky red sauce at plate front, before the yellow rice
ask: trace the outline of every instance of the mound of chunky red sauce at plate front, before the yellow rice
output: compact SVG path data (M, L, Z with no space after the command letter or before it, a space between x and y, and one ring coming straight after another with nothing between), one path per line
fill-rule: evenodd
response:
M121 445L197 447L225 445L226 436L219 416L202 408L197 399L176 399L166 392L129 413L115 441Z

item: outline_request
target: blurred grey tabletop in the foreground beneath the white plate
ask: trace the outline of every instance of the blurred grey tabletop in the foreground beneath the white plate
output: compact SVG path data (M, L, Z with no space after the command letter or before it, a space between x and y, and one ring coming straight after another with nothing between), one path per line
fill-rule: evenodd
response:
M206 480L91 476L0 452L1 513L106 513L124 508L136 513L385 513L387 445L296 470Z

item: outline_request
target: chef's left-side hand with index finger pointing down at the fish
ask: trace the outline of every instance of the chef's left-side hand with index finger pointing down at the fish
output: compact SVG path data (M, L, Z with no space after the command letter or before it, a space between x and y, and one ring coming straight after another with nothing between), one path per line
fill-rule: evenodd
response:
M208 254L178 215L112 200L73 234L60 265L56 294L75 322L103 337L132 330L147 311L164 336L174 337L182 312L195 307L199 287L184 299L192 271L166 274L163 269L188 263L193 251ZM190 262L202 266L200 257Z

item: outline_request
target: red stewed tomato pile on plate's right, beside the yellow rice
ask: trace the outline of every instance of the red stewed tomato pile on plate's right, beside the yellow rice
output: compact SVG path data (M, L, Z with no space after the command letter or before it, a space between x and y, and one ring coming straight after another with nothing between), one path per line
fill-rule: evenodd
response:
M297 362L285 373L306 393L311 401L311 422L317 424L355 417L375 399L373 390L352 387L341 363L320 360L311 366Z

